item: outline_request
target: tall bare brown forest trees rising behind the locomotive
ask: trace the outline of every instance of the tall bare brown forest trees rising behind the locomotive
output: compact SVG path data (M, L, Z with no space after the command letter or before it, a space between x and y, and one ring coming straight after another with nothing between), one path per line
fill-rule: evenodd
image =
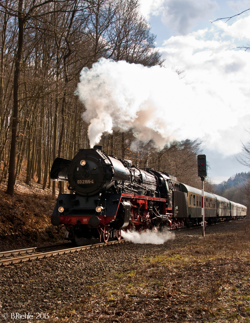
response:
M85 107L74 94L81 70L101 57L162 66L155 35L137 0L5 0L0 32L0 185L7 183L13 195L22 176L27 185L36 181L55 196L66 184L50 181L54 159L71 159L80 148L90 148ZM100 144L109 155L201 188L198 140L159 150L153 141L135 141L130 130L104 133ZM205 185L213 189L211 181Z

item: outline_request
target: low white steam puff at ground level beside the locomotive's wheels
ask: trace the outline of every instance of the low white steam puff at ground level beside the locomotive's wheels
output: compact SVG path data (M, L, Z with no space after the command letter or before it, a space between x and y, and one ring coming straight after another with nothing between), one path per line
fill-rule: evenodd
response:
M122 237L126 241L131 241L135 244L152 244L152 245L162 245L164 242L170 239L175 238L175 234L172 234L168 231L164 232L154 232L154 231L146 231L146 232L141 232L139 234L136 231L123 231L122 230Z

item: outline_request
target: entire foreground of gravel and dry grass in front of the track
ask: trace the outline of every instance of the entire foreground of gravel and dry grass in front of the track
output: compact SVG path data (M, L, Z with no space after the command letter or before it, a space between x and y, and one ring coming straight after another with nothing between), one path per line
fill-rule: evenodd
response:
M250 322L249 219L0 268L15 322ZM4 319L3 322L14 322Z

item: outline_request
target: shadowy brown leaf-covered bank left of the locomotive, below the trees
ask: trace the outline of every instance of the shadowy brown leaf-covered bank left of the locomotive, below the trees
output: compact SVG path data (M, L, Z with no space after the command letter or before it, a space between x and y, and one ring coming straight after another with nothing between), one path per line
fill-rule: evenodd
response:
M39 245L51 245L64 239L64 233L54 234L50 215L56 198L41 184L19 181L15 195L6 194L6 184L0 186L0 250L16 250Z

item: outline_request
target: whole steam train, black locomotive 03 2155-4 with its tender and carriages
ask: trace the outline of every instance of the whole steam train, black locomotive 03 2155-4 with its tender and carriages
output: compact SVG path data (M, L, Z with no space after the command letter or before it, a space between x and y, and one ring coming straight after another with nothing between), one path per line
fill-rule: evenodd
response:
M66 228L65 239L92 237L107 242L121 239L121 229L169 230L199 224L201 190L153 169L139 169L127 159L108 156L102 146L80 149L72 160L56 158L53 181L68 181L69 194L59 194L51 223ZM205 220L246 215L246 207L212 193L204 193Z

